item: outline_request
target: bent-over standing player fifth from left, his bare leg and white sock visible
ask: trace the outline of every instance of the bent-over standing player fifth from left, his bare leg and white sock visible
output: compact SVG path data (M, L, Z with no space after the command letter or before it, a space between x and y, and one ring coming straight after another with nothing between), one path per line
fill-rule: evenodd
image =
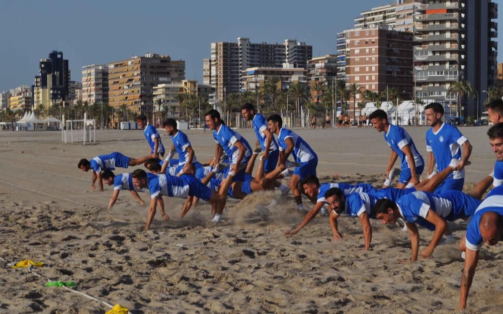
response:
M278 170L285 171L286 160L290 154L293 154L295 162L299 164L293 170L290 178L290 189L297 203L297 208L303 210L299 183L310 175L316 176L318 156L300 136L291 130L282 128L283 119L281 116L271 115L267 118L267 122L269 130L278 136L278 144L280 145Z

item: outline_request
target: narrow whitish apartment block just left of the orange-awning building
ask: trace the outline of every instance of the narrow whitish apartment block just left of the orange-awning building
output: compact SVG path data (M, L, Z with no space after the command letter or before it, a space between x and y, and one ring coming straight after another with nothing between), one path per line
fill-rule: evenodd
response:
M82 101L108 102L108 65L92 64L82 67Z

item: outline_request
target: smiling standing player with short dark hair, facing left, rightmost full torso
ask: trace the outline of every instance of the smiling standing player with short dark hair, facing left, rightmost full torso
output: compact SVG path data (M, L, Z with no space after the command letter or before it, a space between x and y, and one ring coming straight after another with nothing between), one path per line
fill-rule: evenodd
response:
M452 158L460 161L456 170L442 182L435 191L436 193L450 190L463 190L465 181L464 167L472 151L470 142L464 137L458 128L442 122L444 107L438 102L432 102L425 107L426 121L432 127L426 132L426 150L430 152L428 158L428 174L433 172L435 162L438 171L444 170ZM463 146L463 154L461 154Z

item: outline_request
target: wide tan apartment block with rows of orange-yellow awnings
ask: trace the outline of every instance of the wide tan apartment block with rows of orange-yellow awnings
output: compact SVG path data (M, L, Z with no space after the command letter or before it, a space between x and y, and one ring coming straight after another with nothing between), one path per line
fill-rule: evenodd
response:
M134 112L153 110L153 89L158 84L185 79L185 61L168 55L146 53L109 63L109 105L126 104Z

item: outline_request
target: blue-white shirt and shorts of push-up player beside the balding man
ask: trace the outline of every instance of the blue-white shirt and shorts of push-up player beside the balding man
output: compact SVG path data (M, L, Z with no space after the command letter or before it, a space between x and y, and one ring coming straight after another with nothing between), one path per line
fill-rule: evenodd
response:
M400 197L396 204L402 218L411 223L434 230L435 226L426 220L432 210L447 221L455 221L472 216L480 200L461 191L433 194L417 191Z

